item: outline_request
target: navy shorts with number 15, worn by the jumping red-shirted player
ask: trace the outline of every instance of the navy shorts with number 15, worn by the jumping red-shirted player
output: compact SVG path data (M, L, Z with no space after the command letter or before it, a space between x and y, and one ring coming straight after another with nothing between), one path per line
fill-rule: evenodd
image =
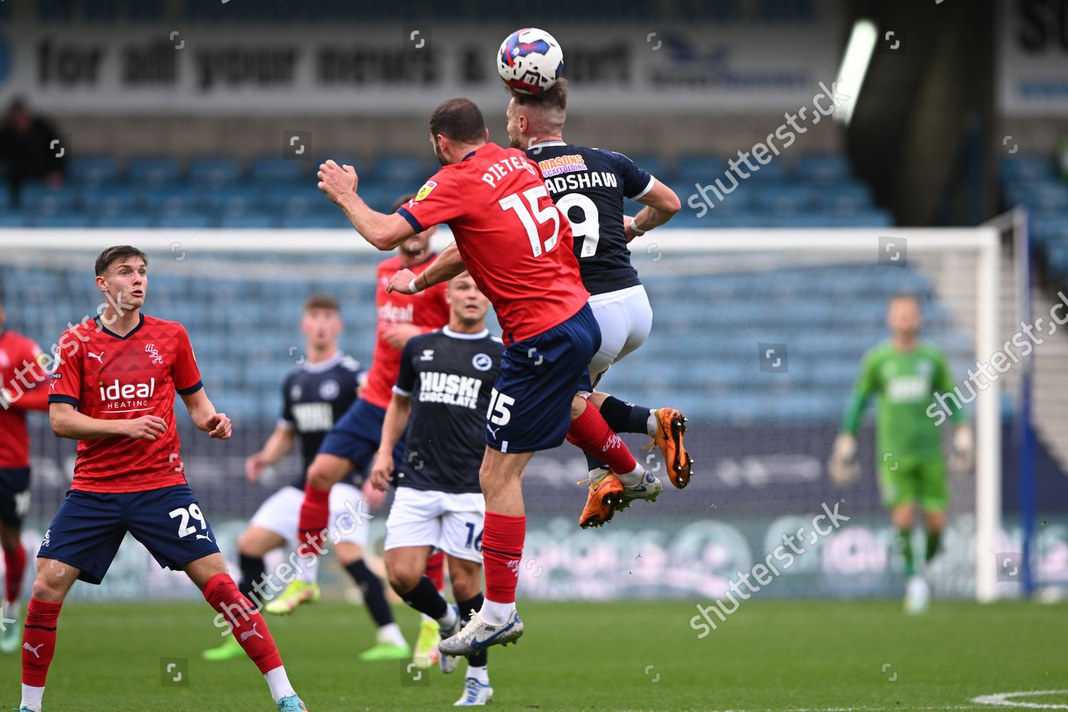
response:
M564 442L571 400L593 391L590 361L600 327L590 305L537 336L504 350L486 413L486 444L502 453L531 453Z

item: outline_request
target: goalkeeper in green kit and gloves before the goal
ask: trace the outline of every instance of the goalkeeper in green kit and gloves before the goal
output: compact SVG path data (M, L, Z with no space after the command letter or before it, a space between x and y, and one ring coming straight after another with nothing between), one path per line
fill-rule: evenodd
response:
M921 613L929 603L930 587L916 572L912 551L915 503L920 502L924 512L927 531L924 560L929 563L941 545L949 502L942 437L927 410L934 394L952 392L954 383L942 350L920 341L923 317L915 296L895 296L886 312L886 325L891 331L890 341L864 354L860 378L842 420L842 431L834 441L829 470L839 486L849 485L857 478L860 473L857 429L868 398L876 396L875 466L879 473L879 489L883 504L891 511L905 557L905 573L909 577L905 608L909 613ZM956 424L954 470L971 470L971 427L959 408L953 410L951 417Z

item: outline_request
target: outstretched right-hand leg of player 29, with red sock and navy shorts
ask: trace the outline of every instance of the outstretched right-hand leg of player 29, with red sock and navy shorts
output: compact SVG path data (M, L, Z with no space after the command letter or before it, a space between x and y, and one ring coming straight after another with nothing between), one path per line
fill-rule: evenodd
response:
M125 518L130 534L163 568L185 571L216 610L215 626L232 634L256 664L280 712L304 710L285 675L267 623L226 572L215 533L188 485L132 492ZM255 588L255 587L254 587Z

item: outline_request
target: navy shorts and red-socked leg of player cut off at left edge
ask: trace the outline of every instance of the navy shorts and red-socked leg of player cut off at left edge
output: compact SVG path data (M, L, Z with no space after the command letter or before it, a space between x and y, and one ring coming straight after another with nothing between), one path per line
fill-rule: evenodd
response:
M0 470L0 548L4 560L4 597L0 616L0 652L18 650L22 638L18 626L19 592L26 574L26 548L22 547L22 517L30 506L30 470Z

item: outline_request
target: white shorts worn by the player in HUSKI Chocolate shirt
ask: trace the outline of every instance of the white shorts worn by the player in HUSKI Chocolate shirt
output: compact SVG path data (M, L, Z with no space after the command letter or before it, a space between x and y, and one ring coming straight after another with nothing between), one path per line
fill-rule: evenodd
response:
M398 487L386 520L386 550L434 547L450 556L482 564L481 492L452 494Z

